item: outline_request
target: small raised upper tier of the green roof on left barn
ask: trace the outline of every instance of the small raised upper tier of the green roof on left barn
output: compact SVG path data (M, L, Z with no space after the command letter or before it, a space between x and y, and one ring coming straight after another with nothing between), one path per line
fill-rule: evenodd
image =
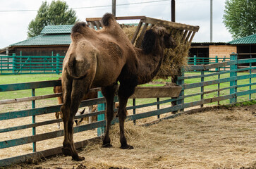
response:
M45 26L41 34L71 34L73 25L48 25Z

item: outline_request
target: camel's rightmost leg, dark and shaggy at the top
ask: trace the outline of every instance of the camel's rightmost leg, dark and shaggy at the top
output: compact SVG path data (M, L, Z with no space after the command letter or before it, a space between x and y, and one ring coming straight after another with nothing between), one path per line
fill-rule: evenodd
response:
M120 142L121 149L133 149L133 146L127 144L126 136L124 132L124 122L126 120L126 105L128 98L134 93L135 87L128 83L121 83L118 90L119 108L118 108L118 118L120 127Z

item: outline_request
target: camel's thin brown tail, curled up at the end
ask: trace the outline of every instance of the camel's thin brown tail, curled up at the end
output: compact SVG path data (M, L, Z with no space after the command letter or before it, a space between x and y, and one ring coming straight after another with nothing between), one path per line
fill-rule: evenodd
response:
M83 73L79 73L80 75L77 75L77 71L76 71L76 59L75 59L75 56L71 56L69 58L69 61L68 61L68 75L70 75L73 79L75 80L80 80L80 79L83 79L84 77L87 76L88 74L88 71L85 70L85 72ZM82 74L82 75L81 75Z

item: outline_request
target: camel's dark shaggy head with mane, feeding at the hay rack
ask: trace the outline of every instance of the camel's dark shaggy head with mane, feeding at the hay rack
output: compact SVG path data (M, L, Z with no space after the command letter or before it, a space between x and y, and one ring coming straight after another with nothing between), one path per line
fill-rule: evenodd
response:
M154 26L151 30L147 30L142 41L142 49L144 49L146 53L150 53L156 42L159 42L163 48L176 47L176 42L165 27Z

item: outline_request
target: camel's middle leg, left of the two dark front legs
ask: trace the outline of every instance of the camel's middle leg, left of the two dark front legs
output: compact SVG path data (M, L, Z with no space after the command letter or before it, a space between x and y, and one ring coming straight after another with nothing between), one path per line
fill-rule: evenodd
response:
M114 84L109 87L102 87L102 94L106 99L106 131L103 139L103 147L110 147L110 137L109 137L109 129L111 125L111 121L114 118L114 96L116 92L117 84Z

